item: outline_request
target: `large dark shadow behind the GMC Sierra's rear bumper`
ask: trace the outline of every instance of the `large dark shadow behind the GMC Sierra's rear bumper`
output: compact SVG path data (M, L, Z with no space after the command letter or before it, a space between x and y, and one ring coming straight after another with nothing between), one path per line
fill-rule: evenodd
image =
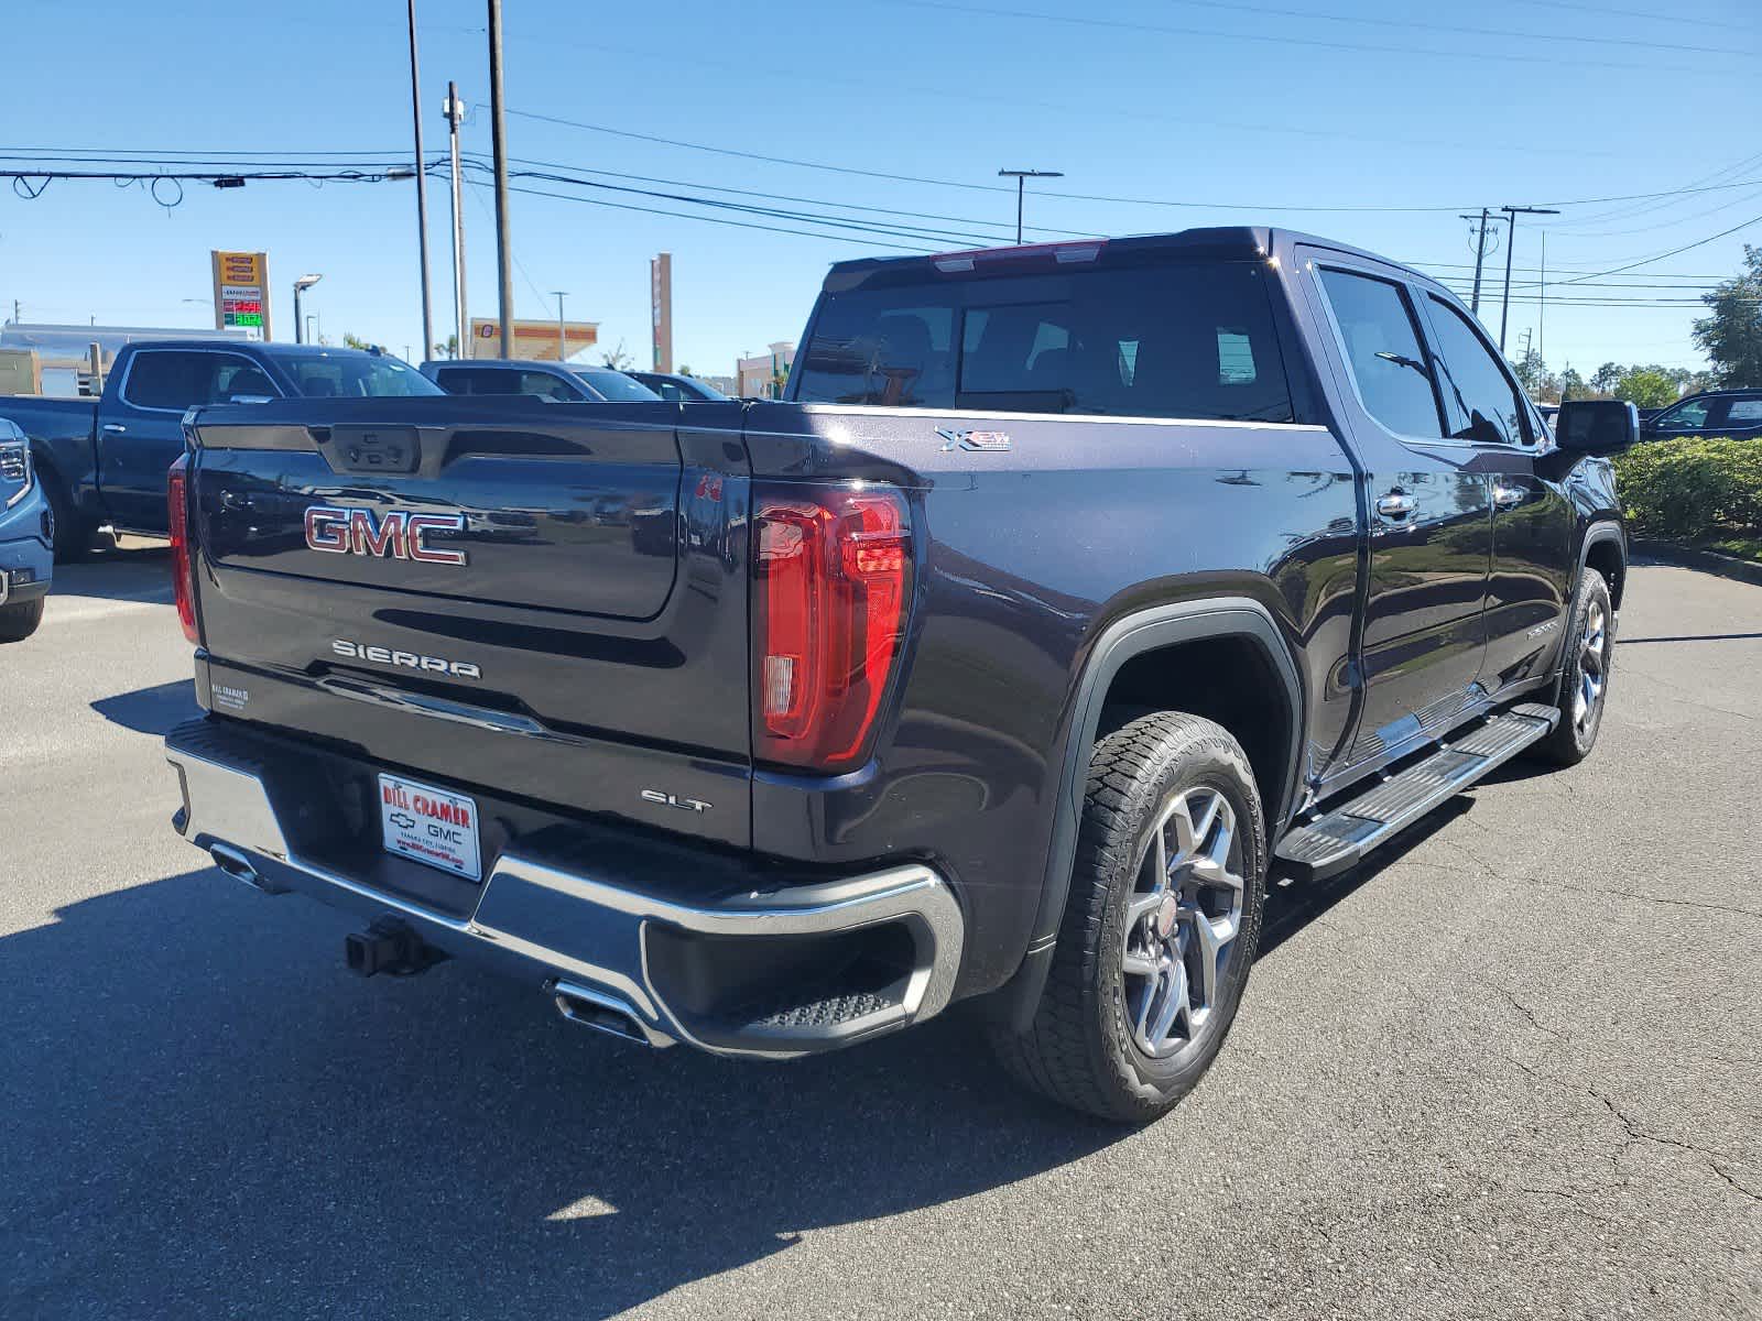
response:
M606 1317L1122 1136L960 1022L650 1053L458 963L354 981L344 930L203 870L0 939L0 1314Z

